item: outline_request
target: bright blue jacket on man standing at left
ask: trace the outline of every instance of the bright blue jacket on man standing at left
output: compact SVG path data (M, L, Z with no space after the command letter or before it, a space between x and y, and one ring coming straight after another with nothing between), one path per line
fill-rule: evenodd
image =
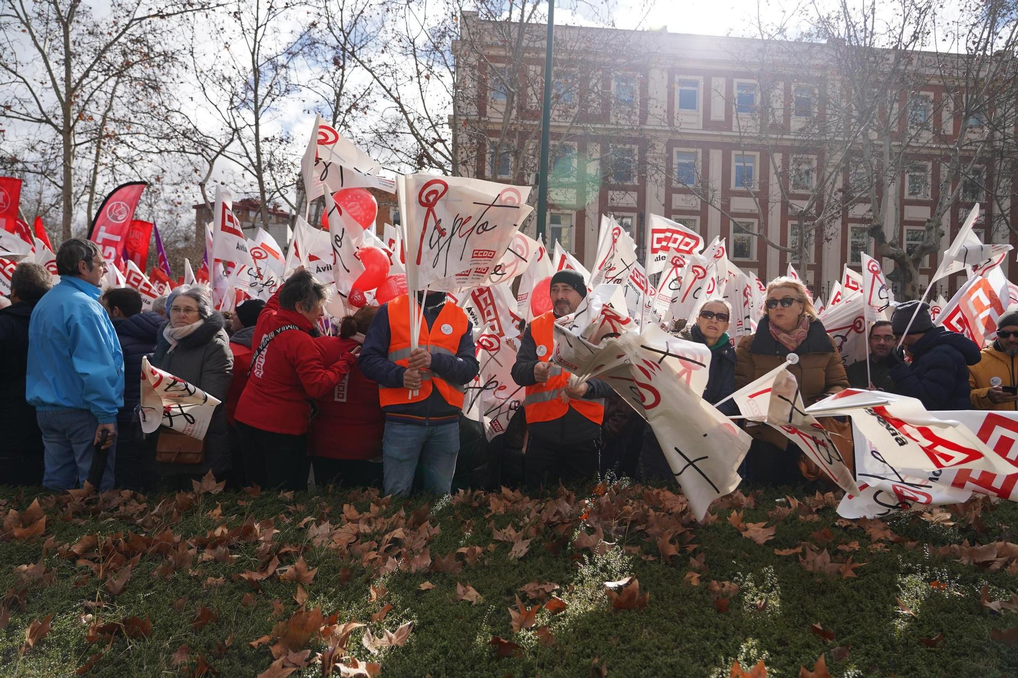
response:
M124 402L124 358L100 289L73 276L43 295L29 324L25 398L37 410L88 409L112 423Z

